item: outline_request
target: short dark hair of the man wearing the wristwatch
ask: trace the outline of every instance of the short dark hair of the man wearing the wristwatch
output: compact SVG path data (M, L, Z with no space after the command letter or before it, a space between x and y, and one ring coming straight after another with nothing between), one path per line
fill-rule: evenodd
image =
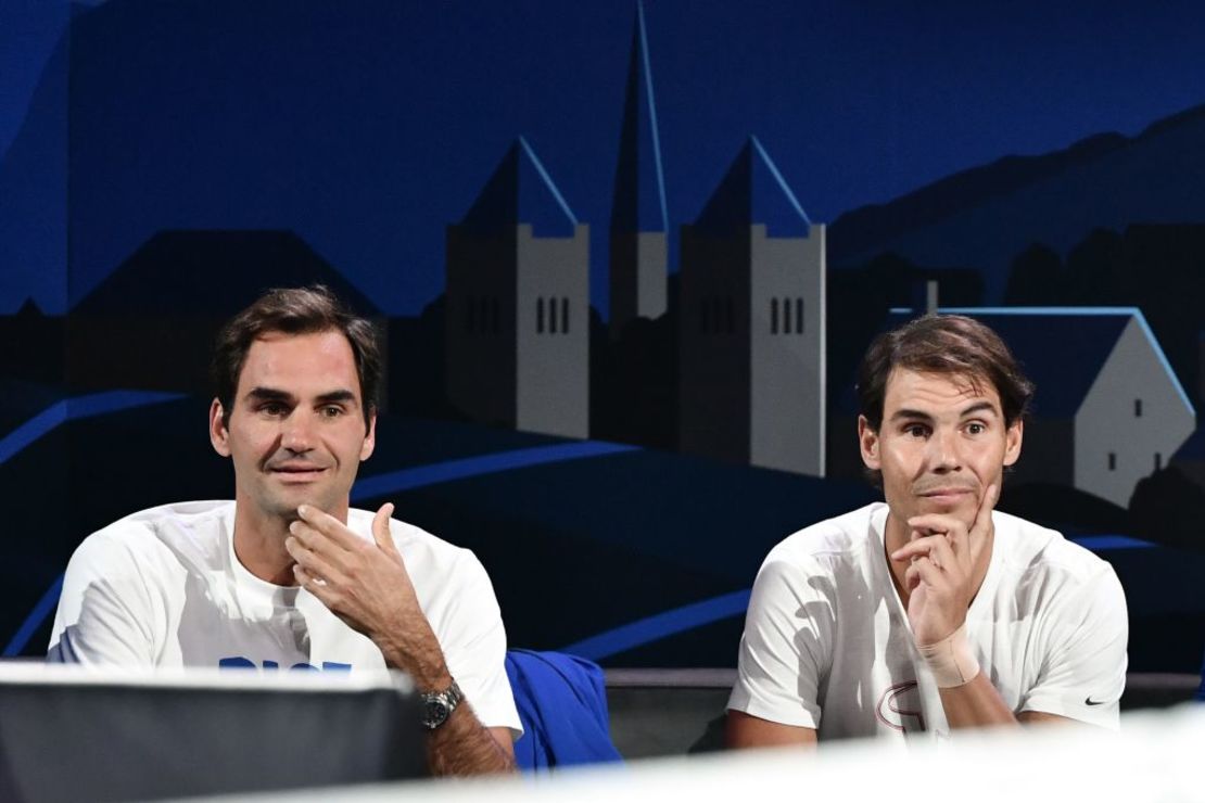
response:
M364 421L368 424L380 403L381 347L376 327L353 313L322 284L269 290L227 321L218 332L210 374L214 395L222 403L222 424L230 424L239 374L242 373L247 352L255 339L269 332L311 335L329 331L342 333L352 347L355 373L360 380Z

